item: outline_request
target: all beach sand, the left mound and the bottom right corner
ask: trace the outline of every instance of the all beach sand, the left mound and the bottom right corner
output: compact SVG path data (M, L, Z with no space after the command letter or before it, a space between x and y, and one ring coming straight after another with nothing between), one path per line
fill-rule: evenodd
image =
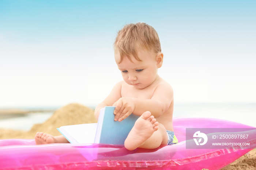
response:
M0 129L0 139L34 139L38 131L57 136L61 134L56 128L61 126L96 122L92 109L80 104L69 104L55 111L44 123L35 124L30 131ZM221 170L256 170L256 149Z

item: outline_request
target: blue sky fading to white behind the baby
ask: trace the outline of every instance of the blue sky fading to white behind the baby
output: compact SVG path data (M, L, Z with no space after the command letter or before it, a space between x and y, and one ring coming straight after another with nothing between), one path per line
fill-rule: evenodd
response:
M97 105L125 24L158 32L176 103L256 103L256 1L0 0L0 108Z

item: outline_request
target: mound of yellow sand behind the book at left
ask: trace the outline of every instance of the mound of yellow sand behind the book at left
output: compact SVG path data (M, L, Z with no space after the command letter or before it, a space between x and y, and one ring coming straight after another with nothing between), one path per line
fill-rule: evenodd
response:
M35 124L30 131L0 130L0 139L34 139L38 131L57 136L61 134L56 128L61 126L96 122L92 109L80 104L69 104L55 111L44 123Z

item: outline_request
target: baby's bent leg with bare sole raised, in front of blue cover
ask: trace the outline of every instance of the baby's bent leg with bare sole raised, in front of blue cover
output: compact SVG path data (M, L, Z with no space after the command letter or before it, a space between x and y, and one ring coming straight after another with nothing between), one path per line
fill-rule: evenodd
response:
M167 144L168 137L165 127L158 124L150 112L144 112L136 120L132 130L125 139L124 146L128 150L134 150L138 147L154 149L161 144Z

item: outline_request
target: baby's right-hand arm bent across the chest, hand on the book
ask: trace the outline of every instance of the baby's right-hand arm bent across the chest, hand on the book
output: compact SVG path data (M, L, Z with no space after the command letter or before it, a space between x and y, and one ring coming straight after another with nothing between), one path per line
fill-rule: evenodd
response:
M173 101L173 89L167 82L161 82L154 90L151 99L122 97L114 105L115 120L121 121L131 113L142 115L150 111L154 117L159 117L164 113Z

